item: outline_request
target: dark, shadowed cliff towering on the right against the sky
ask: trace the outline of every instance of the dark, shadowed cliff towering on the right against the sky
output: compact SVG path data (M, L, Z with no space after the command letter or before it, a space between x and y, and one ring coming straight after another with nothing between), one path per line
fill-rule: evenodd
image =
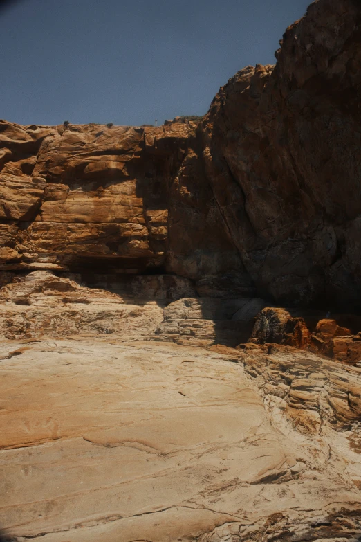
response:
M276 66L248 67L204 123L208 179L261 295L360 308L360 3L319 0Z

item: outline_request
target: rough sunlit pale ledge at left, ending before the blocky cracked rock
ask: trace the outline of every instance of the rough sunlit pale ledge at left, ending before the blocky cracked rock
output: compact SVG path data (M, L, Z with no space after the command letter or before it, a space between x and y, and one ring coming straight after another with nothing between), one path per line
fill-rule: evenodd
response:
M105 334L129 341L149 338L163 320L164 299L122 298L107 290L82 287L48 271L34 271L15 281L0 290L4 338ZM165 296L167 289L160 293Z

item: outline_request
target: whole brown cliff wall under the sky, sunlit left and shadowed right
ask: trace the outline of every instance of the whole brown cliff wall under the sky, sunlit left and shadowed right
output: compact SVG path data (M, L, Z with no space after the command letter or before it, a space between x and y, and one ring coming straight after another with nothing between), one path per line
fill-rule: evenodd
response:
M1 122L1 268L360 309L360 4L319 0L198 126Z

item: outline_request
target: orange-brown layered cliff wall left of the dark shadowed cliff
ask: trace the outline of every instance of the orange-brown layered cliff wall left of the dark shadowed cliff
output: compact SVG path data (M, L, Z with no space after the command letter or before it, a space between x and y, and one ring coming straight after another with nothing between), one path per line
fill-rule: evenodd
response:
M196 123L1 128L2 269L90 270L115 282L232 270L237 280L243 267L204 178ZM252 291L242 274L241 288Z

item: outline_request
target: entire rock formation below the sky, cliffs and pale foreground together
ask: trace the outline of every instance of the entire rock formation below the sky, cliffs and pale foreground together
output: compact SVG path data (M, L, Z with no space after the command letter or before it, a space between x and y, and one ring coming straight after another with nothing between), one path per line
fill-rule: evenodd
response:
M201 121L0 121L0 539L357 542L361 4Z

